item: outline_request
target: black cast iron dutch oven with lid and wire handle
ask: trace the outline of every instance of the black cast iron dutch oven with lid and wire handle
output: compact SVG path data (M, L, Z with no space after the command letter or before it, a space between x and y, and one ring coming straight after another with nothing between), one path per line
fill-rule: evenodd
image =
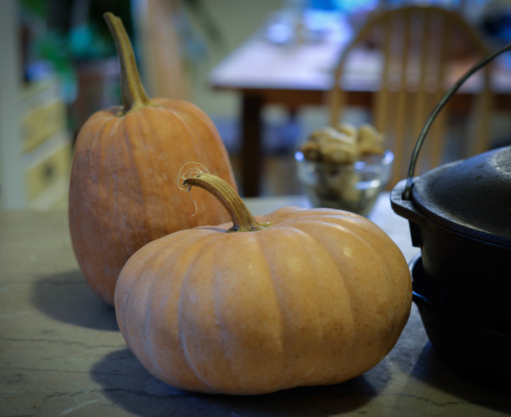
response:
M485 374L511 371L511 146L413 177L427 130L459 86L508 45L467 72L428 119L392 209L409 221L413 300L433 347Z

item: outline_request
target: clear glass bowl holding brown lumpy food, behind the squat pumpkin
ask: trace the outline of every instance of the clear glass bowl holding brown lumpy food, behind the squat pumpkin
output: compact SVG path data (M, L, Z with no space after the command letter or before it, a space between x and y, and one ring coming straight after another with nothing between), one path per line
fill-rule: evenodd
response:
M369 155L354 164L308 160L295 153L298 180L315 207L328 207L367 216L385 189L394 155Z

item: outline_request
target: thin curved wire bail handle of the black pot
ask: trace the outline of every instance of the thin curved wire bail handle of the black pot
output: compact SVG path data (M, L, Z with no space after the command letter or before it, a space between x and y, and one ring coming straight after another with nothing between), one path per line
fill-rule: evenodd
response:
M485 58L481 59L479 62L477 62L471 69L469 69L466 73L464 73L461 78L459 78L456 83L447 91L447 93L440 99L438 104L435 106L431 114L429 115L428 119L426 120L426 123L424 127L421 130L421 133L419 135L419 138L417 138L417 142L415 143L415 147L413 148L412 156L410 158L410 165L408 167L408 176L406 177L406 185L405 190L403 191L403 200L411 200L411 187L412 187L412 181L413 181L413 175L415 173L415 165L417 163L417 157L419 157L419 151L421 150L422 144L424 142L424 138L426 137L429 128L431 127L431 124L435 120L436 116L444 108L444 106L447 104L449 99L456 93L461 87L461 85L475 72L480 70L484 65L486 65L488 62L490 62L492 59L500 55L501 53L511 49L511 43L508 43L508 45L504 46L503 48L493 52L492 54L486 56Z

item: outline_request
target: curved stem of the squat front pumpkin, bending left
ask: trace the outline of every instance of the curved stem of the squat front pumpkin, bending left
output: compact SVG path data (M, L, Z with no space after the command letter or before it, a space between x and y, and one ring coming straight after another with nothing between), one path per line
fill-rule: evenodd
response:
M233 227L227 230L228 232L251 232L266 229L270 226L269 223L259 223L255 220L235 189L216 175L200 173L195 175L195 177L184 180L183 186L203 188L213 194L217 200L222 203L229 212L230 218L233 220Z

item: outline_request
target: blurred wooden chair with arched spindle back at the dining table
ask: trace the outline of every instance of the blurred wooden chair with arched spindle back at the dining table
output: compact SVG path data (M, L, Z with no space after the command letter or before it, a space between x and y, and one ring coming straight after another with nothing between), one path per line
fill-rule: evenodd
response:
M330 92L330 124L335 126L342 121L346 83L356 84L360 76L349 74L350 59L375 58L378 79L374 85L372 123L386 135L387 146L394 152L388 184L391 189L406 178L413 145L433 107L457 78L488 53L474 29L456 12L421 6L378 12L368 18L338 61ZM416 175L489 148L493 98L489 77L486 66L469 80L477 94L468 94L467 100L461 100L464 116L468 109L471 113L457 125L467 127L464 130L470 130L472 137L469 139L468 133L463 132L456 143L449 129L460 115L449 103L431 126ZM350 89L356 90L356 85L350 85ZM458 150L453 152L454 146Z

